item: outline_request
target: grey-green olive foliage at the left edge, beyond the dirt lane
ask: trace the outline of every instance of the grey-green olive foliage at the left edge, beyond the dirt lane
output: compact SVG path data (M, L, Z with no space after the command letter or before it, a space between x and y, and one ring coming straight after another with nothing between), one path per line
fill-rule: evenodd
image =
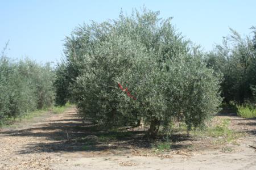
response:
M12 61L5 49L0 58L0 122L52 105L55 79L49 63L29 59Z

